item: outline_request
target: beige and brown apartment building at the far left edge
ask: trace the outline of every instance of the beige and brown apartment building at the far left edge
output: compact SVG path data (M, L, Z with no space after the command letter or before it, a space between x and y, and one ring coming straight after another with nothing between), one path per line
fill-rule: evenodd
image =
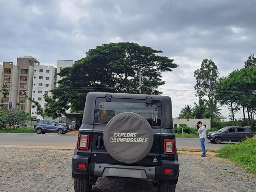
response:
M4 108L8 108L9 102L12 102L12 108L16 108L17 94L18 94L18 77L19 67L15 66L13 62L3 62L3 66L0 67L2 71L1 88L6 87L8 93L4 98ZM0 92L0 98L3 98L2 92Z

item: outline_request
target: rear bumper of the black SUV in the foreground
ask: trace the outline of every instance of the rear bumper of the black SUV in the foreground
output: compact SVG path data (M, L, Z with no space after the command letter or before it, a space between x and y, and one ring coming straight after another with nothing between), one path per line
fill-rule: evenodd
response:
M85 163L85 169L77 168L78 163ZM129 178L164 179L177 183L179 167L178 161L162 160L162 166L129 166L126 164L90 163L90 156L74 155L72 158L73 178L93 174L95 176L115 176ZM164 168L171 168L172 173L164 173Z

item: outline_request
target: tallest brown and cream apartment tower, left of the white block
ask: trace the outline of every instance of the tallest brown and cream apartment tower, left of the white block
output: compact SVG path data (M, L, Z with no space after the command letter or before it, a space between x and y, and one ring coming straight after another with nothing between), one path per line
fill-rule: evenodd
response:
M20 101L20 109L28 112L28 114L31 114L32 102L25 99L25 96L32 97L34 66L39 64L40 62L32 56L17 58L17 66L19 67L17 101Z

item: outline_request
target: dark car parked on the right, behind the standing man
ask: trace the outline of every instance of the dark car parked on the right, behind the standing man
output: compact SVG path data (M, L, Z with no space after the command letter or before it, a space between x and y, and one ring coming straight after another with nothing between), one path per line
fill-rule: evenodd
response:
M221 144L222 141L241 141L252 136L253 132L250 127L226 126L218 131L208 133L207 139Z

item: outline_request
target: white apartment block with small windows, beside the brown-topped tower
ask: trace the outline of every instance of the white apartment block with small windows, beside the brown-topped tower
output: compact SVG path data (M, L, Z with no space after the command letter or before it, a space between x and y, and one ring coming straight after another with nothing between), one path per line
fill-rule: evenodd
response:
M44 94L51 96L50 90L54 88L55 81L54 66L35 65L33 78L32 99L38 101L44 108ZM33 103L32 103L33 105ZM42 116L36 114L36 108L31 108L31 116L36 116L37 119L43 119Z

